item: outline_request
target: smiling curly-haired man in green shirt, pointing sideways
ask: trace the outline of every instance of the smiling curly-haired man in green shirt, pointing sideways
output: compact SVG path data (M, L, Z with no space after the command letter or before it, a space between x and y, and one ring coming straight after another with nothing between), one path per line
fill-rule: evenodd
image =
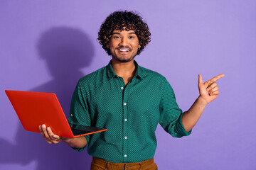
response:
M78 151L88 144L93 157L91 169L157 169L153 157L158 123L174 137L189 135L206 105L217 98L215 81L224 74L204 84L199 75L200 95L182 113L168 81L134 61L150 42L149 37L148 26L135 13L116 11L107 17L98 40L112 60L78 81L69 122L108 130L70 139L41 125L48 143L65 142Z

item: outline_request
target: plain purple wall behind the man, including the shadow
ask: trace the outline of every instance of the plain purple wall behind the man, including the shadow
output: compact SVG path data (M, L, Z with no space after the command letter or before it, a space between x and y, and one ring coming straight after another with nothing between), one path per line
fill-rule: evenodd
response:
M1 1L0 169L89 169L86 151L23 130L4 90L54 92L67 115L78 79L109 62L97 32L120 9L148 23L151 43L136 60L169 80L183 111L198 96L198 74L225 74L191 136L156 130L159 169L256 169L252 0Z

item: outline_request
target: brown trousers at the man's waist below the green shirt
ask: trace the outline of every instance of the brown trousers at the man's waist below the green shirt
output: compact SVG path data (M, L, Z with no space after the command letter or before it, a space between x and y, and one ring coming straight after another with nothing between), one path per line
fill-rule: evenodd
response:
M148 159L144 162L136 163L112 163L104 159L92 157L92 164L90 170L157 170L154 163L154 158Z

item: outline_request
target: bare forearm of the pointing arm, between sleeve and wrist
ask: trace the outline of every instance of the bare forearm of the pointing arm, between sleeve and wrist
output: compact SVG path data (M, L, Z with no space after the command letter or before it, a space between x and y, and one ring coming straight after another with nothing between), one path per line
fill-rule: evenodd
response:
M204 108L206 108L206 105L206 101L204 101L203 98L199 96L196 98L196 101L193 103L191 108L183 113L182 124L186 132L189 132L196 125L203 113Z

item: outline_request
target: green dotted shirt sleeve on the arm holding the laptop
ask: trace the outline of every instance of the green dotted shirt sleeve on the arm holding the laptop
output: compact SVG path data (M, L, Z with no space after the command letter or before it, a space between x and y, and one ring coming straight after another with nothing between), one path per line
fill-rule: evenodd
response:
M68 117L68 123L78 124L78 125L86 125L90 126L90 114L88 112L88 105L86 99L86 91L82 88L81 81L78 81L77 86L75 87L75 91L72 96L71 105L70 105L70 115ZM85 139L87 140L87 147L90 141L90 135L85 135ZM78 152L82 152L85 147L82 148L74 148Z

